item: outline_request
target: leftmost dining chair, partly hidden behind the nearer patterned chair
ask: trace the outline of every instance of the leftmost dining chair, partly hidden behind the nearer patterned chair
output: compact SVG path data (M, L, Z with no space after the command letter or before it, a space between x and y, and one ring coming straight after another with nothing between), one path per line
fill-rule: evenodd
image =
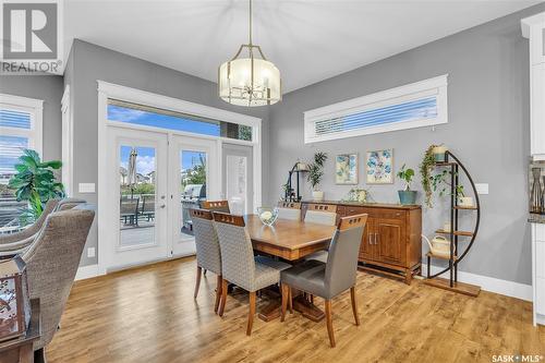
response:
M216 302L214 304L214 312L217 313L221 297L221 255L219 252L218 234L213 225L214 217L210 210L205 209L190 209L190 215L193 220L197 253L197 276L194 298L196 299L198 294L203 269L213 271L217 275Z

